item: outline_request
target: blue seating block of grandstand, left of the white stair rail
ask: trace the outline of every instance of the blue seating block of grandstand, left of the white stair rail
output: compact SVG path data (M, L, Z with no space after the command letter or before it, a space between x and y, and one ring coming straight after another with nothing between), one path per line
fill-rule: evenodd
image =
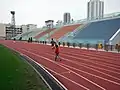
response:
M73 38L77 42L101 43L109 42L110 38L119 30L120 18L92 22L90 25L79 31Z

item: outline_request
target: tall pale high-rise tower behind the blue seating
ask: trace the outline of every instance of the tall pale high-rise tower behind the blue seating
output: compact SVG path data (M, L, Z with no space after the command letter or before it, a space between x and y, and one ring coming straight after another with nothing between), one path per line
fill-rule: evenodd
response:
M88 20L101 19L104 17L104 2L100 0L90 0L87 5Z

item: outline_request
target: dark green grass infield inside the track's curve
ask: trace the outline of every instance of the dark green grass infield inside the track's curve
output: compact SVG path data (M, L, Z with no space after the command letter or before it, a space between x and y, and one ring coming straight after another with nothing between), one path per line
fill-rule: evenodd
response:
M10 49L0 45L0 90L48 90L39 75Z

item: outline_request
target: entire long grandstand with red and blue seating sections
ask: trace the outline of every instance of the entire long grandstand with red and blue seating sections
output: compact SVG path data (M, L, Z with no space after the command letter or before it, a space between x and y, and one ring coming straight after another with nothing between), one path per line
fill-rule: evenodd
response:
M28 40L33 37L36 41L48 41L51 38L60 42L70 43L110 43L115 45L120 40L120 16L117 14L109 14L100 20L87 21L78 20L69 23L68 25L61 24L54 26L53 29L44 27L42 29L31 30L16 36L20 36L22 40Z

